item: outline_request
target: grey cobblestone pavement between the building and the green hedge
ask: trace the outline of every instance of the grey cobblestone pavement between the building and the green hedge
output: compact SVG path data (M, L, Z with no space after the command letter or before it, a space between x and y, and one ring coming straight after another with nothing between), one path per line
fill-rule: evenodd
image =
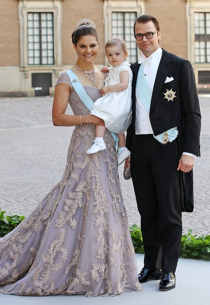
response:
M210 95L200 95L201 158L195 159L193 213L183 213L184 232L210 232ZM74 127L52 124L51 97L0 98L0 207L28 215L62 178ZM67 109L71 114L71 109ZM119 167L129 224L140 224L132 182Z

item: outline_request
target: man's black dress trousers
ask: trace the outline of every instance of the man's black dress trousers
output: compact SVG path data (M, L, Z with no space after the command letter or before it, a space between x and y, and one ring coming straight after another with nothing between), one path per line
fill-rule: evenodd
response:
M134 135L131 177L145 249L144 267L175 272L182 238L177 139L159 143L153 135ZM159 260L160 251L162 252Z

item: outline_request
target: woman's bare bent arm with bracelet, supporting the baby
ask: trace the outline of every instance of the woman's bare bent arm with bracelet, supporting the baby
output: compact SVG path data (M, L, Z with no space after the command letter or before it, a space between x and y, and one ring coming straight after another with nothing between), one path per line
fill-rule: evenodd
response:
M79 116L65 114L70 92L71 86L66 83L60 83L55 86L52 111L54 126L75 126L80 124ZM92 115L82 115L81 122L83 124L104 125L102 119Z

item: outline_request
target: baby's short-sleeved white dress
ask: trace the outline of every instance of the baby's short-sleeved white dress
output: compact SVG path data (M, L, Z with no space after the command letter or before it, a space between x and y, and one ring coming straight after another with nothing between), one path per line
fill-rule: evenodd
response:
M105 121L107 129L124 133L131 124L131 84L132 71L130 63L124 61L119 66L110 66L109 74L105 79L105 86L111 86L120 83L120 73L129 72L129 85L124 91L108 92L97 99L90 112Z

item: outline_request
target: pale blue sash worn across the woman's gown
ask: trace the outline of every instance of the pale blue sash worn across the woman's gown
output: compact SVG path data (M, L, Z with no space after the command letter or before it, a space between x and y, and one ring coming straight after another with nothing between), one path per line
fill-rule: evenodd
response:
M74 90L77 92L79 98L81 99L81 101L84 103L84 105L87 107L87 109L89 111L91 111L94 102L92 101L92 99L87 95L87 93L85 92L84 88L82 87L81 83L79 82L79 79L77 77L77 75L72 71L72 70L68 70L66 71L66 73L69 75L69 78L71 80L72 86L74 87ZM116 133L114 133L113 131L109 130L109 132L111 133L114 141L115 141L115 149L117 151L118 148L118 136Z

